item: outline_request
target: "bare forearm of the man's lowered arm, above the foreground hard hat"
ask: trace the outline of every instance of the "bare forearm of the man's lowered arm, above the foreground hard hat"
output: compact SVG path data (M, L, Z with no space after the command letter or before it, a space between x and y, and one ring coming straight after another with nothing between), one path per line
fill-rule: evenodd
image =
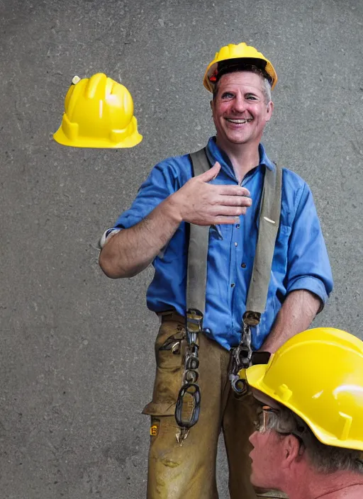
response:
M319 308L320 298L310 291L306 291L306 289L291 291L260 350L276 352L289 338L308 329Z

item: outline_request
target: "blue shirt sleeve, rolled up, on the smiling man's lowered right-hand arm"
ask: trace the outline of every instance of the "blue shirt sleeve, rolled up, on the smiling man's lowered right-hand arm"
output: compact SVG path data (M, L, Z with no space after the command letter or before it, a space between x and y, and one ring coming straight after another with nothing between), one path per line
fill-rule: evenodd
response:
M298 200L289 240L286 290L289 293L297 289L306 289L318 296L322 302L320 310L333 290L328 252L307 184Z

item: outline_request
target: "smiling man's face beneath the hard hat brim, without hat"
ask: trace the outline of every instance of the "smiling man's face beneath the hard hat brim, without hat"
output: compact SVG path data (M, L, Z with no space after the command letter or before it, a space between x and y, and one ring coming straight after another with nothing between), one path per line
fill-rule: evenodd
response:
M274 104L265 100L262 77L242 71L223 74L211 107L217 144L228 150L232 144L257 147Z

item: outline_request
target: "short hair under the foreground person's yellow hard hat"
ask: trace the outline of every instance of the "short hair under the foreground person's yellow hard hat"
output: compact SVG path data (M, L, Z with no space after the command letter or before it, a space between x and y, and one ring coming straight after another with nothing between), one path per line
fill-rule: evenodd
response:
M288 408L269 413L267 427L281 435L293 434L305 447L308 459L316 471L326 474L353 471L363 475L362 451L323 444L306 422Z

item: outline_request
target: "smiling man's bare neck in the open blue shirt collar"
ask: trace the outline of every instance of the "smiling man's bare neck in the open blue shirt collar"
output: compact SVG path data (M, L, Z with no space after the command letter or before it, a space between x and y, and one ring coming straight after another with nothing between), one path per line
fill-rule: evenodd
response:
M217 135L216 144L228 155L238 184L241 183L245 174L259 164L259 141L253 144L233 144L221 140Z

